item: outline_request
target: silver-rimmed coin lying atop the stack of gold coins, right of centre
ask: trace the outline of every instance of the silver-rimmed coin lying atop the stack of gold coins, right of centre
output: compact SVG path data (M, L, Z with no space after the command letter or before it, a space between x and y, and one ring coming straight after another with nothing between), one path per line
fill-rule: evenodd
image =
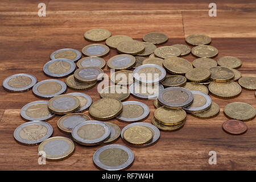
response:
M193 94L181 87L169 87L159 93L160 105L171 109L181 109L192 104Z

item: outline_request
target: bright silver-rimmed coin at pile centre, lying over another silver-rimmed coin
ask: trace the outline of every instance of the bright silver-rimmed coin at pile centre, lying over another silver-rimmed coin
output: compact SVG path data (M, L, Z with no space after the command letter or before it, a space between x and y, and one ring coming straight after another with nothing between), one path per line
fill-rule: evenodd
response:
M134 69L133 77L144 84L158 84L166 77L166 70L156 64L144 64Z

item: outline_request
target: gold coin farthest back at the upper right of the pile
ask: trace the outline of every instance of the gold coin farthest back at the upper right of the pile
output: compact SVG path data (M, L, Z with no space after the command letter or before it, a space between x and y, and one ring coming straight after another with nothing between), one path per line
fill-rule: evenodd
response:
M212 39L208 35L204 34L192 34L187 36L185 40L187 43L193 46L209 44L212 41Z

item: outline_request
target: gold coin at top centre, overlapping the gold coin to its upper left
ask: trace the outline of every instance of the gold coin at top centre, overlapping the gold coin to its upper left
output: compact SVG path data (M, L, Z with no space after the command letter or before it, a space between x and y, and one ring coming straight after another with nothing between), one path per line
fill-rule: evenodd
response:
M144 49L144 44L138 40L126 40L117 45L117 51L119 53L128 53L130 55L142 53Z

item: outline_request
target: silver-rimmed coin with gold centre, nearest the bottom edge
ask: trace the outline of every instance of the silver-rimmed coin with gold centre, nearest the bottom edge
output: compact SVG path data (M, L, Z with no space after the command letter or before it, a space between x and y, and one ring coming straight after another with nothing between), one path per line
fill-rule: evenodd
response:
M109 144L99 148L93 155L93 163L101 169L118 171L133 164L134 154L121 144Z

